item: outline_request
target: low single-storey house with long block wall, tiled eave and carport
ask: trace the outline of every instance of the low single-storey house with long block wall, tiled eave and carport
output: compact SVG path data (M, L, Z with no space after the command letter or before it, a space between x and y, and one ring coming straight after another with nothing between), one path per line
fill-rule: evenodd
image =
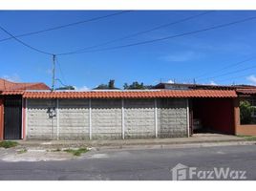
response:
M16 94L22 99L22 111L12 115L9 123L6 115L12 102L5 99L2 139L181 138L197 133L196 122L202 132L256 135L256 124L240 122L240 102L254 104L254 86L165 83L151 90L51 92L42 88L4 90L1 96ZM16 125L17 121L21 122Z

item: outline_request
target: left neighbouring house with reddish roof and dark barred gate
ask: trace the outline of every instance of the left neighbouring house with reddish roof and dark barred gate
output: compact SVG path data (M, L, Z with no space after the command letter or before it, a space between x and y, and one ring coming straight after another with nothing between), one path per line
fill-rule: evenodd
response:
M16 83L0 79L0 139L22 138L25 105L22 95L27 90L50 90L44 83Z

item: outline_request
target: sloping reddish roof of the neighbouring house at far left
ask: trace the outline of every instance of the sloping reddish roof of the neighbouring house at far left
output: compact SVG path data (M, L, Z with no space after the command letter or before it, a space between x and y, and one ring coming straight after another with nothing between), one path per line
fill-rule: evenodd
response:
M0 91L11 90L50 90L50 88L44 83L18 83L0 78Z

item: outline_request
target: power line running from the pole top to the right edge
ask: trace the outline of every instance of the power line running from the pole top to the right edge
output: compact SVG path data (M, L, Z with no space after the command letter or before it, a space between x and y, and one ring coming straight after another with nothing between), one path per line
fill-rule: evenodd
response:
M93 51L84 51L84 52L79 52L79 53L95 53L95 52L111 51L111 50L123 49L123 48L127 48L127 47L143 45L143 44L149 44L149 43L154 43L154 42L158 42L158 41L168 40L168 39L172 39L172 38L176 38L176 37L191 35L191 34L195 34L195 33L199 33L199 32L212 31L212 30L216 30L216 29L232 26L232 25L235 25L235 24L244 23L246 21L250 21L250 20L254 20L254 19L256 19L256 16L248 17L248 18L245 18L245 19L237 20L237 21L233 21L233 22L230 22L230 23L225 23L225 24L222 24L222 25L217 25L217 26L205 28L203 30L197 30L197 31L193 31L193 32L183 32L183 33L180 33L180 34L170 35L170 36L166 36L166 37L162 37L162 38L157 38L157 39L153 39L153 40L141 41L141 42L137 42L137 43L131 43L131 44L120 45L120 46L116 46L116 47L109 47L109 48L104 48L104 49L97 49L97 50L93 50ZM77 51L78 50L76 50L74 52L69 52L69 53L57 53L57 55L74 54Z

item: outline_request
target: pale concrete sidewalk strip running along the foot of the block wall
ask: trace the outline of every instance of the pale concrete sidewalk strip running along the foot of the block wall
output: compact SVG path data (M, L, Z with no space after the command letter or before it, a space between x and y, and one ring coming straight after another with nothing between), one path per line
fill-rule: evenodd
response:
M218 144L248 144L245 138L220 134L198 134L190 138L139 138L139 139L93 139L93 140L19 140L19 145L32 148L92 147L99 149L120 148L166 148L207 146ZM252 142L250 142L252 144Z

